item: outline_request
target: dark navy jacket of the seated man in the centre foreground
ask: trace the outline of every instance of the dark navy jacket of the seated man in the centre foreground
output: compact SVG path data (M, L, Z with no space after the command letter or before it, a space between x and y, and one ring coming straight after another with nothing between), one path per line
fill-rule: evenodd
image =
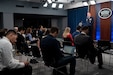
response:
M46 65L53 65L63 57L60 51L60 43L52 35L43 38L40 46Z

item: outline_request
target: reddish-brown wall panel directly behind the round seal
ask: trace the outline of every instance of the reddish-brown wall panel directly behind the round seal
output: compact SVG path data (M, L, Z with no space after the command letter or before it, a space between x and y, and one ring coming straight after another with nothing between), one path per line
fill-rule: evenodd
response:
M111 2L102 3L101 9L102 8L111 9ZM110 40L111 17L108 19L100 18L100 28L101 28L101 40Z

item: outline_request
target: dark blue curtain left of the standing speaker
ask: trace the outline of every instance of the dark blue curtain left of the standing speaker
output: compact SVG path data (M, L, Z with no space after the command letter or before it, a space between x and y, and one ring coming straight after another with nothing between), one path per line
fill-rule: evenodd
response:
M80 7L68 10L68 26L71 28L71 33L75 31L80 21L82 21L83 24L86 23L87 10L88 7Z

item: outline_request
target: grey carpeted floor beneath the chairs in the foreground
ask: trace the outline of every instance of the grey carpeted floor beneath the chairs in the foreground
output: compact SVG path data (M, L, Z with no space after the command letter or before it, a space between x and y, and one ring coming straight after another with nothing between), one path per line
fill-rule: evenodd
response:
M90 62L87 60L84 61L81 59L77 59L75 75L113 75L112 64L109 65L109 63L105 61L105 59L108 59L109 56L104 54L104 57L107 57L103 58L104 69L98 69L97 62L95 64L90 64ZM31 64L33 67L32 75L52 75L52 69L45 66L42 60L37 60L40 62L36 64ZM67 68L69 69L69 65L67 65Z

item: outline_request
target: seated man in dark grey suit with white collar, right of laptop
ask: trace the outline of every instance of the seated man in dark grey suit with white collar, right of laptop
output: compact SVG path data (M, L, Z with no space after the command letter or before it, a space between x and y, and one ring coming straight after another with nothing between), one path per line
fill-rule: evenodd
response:
M103 60L102 60L102 51L95 47L94 41L91 39L89 35L88 26L83 26L82 31L79 35L74 38L75 46L77 49L78 56L80 58L89 58L90 62L94 64L95 57L98 58L98 68L102 69Z

